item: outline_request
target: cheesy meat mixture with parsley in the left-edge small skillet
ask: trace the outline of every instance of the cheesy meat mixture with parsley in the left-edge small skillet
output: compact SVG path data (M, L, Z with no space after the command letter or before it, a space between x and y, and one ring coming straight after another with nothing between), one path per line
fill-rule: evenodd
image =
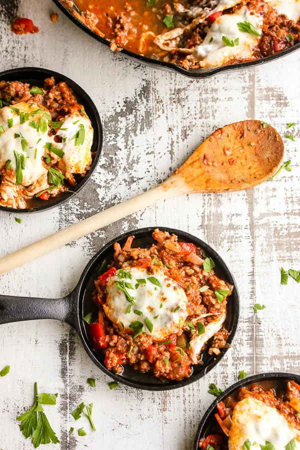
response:
M72 90L0 81L0 205L24 209L67 190L92 162L93 129Z

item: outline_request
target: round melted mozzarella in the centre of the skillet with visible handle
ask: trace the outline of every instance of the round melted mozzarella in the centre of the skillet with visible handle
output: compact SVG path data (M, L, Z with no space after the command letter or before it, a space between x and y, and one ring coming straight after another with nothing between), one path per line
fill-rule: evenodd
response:
M117 274L111 277L106 285L106 303L103 308L106 316L120 327L120 322L128 328L132 321L138 320L143 323L143 333L151 335L153 339L161 340L170 333L177 333L182 327L187 316L187 297L184 290L172 278L166 276L158 267L153 269L154 274L150 274L144 268L126 267L126 272L131 274L130 279L120 279ZM153 284L149 277L156 278L160 286ZM138 283L138 280L142 279L146 280L145 284ZM115 281L122 280L132 285L132 289L126 288L135 301L129 313L125 311L130 303L115 284ZM135 287L137 284L138 286ZM134 310L142 312L142 315L136 314ZM151 332L145 324L146 317L153 324Z

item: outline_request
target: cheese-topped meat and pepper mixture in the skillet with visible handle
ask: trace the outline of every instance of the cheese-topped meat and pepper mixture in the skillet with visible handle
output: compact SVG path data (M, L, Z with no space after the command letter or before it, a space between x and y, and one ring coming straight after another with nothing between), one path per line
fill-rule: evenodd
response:
M179 381L201 364L206 348L218 355L227 346L223 324L233 287L215 275L201 248L159 229L152 237L147 248L132 248L134 236L123 248L113 245L114 260L95 280L99 316L89 333L108 369L121 373L129 363Z

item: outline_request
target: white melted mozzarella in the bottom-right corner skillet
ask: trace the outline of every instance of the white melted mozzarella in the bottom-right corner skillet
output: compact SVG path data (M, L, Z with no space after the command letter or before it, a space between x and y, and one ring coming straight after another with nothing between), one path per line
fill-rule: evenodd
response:
M276 408L250 396L234 407L229 450L240 450L247 439L252 444L251 450L260 450L259 444L265 445L266 441L273 444L276 450L284 450L293 438L296 439L296 448L299 450L300 431L292 428Z

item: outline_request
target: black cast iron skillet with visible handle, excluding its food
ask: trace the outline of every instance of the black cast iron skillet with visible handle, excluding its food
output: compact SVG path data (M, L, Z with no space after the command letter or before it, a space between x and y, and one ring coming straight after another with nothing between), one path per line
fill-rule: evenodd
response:
M156 228L156 226L155 226ZM169 231L178 236L179 240L185 242L192 242L195 245L203 248L205 253L210 256L216 266L216 273L223 277L230 284L234 285L232 295L229 297L227 304L227 318L225 327L230 331L228 343L230 344L236 331L238 314L239 314L239 298L238 291L234 278L228 267L221 259L221 257L205 242L192 236L184 231L177 229L159 227L162 231ZM121 246L124 245L126 239L130 235L134 235L133 247L146 247L154 242L152 232L154 227L141 228L138 230L122 234L116 239L108 242L87 264L79 279L75 289L66 297L58 299L50 298L26 298L0 295L0 324L8 322L16 322L20 320L33 320L52 318L62 320L69 323L75 328L79 334L83 347L90 359L107 375L114 378L116 381L124 383L131 387L146 390L169 390L177 387L186 386L193 381L201 378L205 373L211 370L215 364L223 357L227 348L221 350L218 356L210 356L208 352L204 352L202 356L203 364L194 365L193 373L189 378L183 379L179 382L168 381L160 382L154 375L142 374L133 370L129 364L125 364L123 373L116 375L114 372L108 370L104 363L100 350L93 350L89 341L87 324L83 318L89 312L93 312L92 320L97 318L98 308L91 299L91 293L94 290L94 280L97 278L97 269L100 267L102 261L113 259L113 243L119 242Z

